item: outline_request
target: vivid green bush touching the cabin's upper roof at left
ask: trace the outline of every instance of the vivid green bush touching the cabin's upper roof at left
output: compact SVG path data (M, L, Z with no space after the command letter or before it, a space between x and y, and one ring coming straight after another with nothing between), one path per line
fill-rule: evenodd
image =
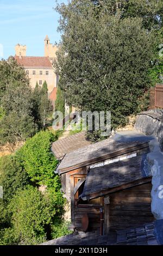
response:
M31 180L39 185L49 185L58 188L58 176L54 174L57 159L51 151L55 140L49 131L41 131L28 139L22 148L23 166Z

